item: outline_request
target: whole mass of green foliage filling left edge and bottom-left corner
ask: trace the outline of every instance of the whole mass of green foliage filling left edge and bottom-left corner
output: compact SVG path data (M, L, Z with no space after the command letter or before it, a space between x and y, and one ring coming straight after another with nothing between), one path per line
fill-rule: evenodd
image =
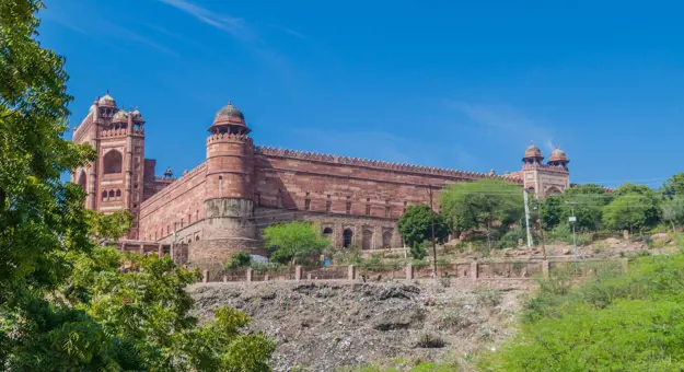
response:
M37 0L0 1L0 365L3 371L265 371L273 344L239 335L233 310L199 327L169 258L130 256L116 239L128 217L83 209L60 174L94 160L66 141L63 58L35 40ZM88 185L88 184L86 184Z

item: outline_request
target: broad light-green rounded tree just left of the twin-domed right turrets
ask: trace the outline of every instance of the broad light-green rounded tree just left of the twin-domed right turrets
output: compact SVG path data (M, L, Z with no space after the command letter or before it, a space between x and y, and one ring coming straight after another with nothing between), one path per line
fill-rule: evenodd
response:
M488 242L524 213L520 186L502 179L453 184L440 196L440 205L454 231L484 229Z

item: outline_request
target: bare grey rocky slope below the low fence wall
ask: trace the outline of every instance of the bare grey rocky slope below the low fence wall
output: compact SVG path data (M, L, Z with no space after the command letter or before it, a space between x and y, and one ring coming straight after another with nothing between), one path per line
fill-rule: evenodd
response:
M277 340L275 371L467 359L511 335L521 291L432 282L209 283L189 288L200 318L233 306Z

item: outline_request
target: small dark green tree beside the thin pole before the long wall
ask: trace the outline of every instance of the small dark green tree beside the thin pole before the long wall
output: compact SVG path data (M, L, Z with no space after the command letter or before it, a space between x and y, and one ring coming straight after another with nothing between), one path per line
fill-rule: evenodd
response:
M436 243L442 243L449 237L449 224L444 216L430 210L430 206L409 206L399 218L397 223L399 234L416 259L425 258L426 249L422 243L432 241L432 219L434 219Z

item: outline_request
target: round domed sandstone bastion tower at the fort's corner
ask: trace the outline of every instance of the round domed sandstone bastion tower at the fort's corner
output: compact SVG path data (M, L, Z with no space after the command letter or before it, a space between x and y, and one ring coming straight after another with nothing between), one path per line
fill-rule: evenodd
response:
M209 127L205 179L205 231L194 261L222 264L233 253L260 253L254 226L254 143L244 115L231 103Z

